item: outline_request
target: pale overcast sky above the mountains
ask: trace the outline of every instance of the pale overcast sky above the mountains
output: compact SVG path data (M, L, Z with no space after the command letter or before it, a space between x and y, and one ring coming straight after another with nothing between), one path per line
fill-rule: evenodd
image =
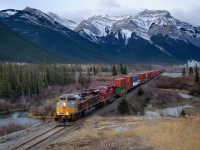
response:
M144 9L168 10L175 18L200 26L200 0L0 0L0 10L26 6L80 22L94 15L130 15Z

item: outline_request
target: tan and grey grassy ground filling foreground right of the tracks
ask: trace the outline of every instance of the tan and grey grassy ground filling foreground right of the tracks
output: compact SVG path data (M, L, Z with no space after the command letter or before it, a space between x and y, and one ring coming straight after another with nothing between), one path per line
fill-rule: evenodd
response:
M49 150L200 149L200 118L101 117L93 115Z

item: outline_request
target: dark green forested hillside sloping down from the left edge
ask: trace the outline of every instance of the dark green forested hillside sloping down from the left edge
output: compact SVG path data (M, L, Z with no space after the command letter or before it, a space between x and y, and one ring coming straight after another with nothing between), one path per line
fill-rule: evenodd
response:
M0 60L10 62L65 62L68 57L37 46L0 22Z

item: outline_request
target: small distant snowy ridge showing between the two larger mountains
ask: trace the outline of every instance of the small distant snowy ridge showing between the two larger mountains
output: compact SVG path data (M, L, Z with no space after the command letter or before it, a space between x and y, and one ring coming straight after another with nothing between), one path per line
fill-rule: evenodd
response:
M64 27L67 27L71 30L74 30L78 24L72 20L68 20L68 19L65 19L61 16L58 16L57 14L54 14L52 12L48 12L47 13L54 21L60 23L62 26Z

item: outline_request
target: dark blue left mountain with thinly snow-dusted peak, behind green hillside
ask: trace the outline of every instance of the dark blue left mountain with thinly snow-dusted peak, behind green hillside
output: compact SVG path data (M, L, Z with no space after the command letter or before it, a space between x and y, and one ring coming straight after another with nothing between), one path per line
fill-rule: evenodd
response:
M1 13L1 12L0 12ZM5 13L5 11L4 11ZM33 8L25 8L1 20L27 40L77 62L112 62L117 60L78 33L62 26L49 15ZM110 58L113 59L110 59ZM68 59L65 61L71 62Z

